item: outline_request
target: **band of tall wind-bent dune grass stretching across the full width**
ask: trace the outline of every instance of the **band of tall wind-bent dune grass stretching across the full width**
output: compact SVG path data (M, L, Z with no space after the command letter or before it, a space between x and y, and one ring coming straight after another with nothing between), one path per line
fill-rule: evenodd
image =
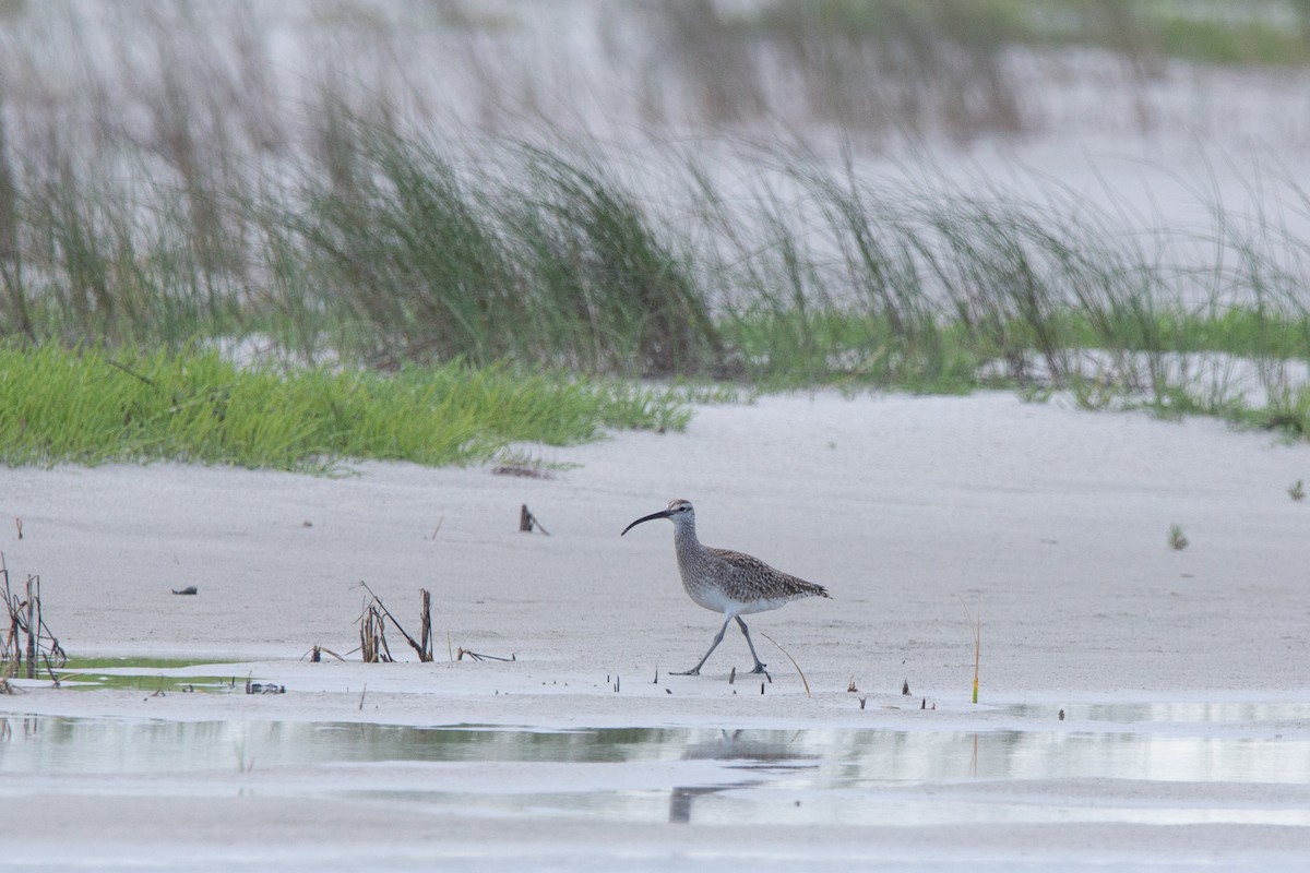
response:
M874 183L804 152L769 153L753 196L686 165L655 202L576 144L443 153L356 116L337 135L345 174L307 165L214 195L215 226L240 233L198 230L185 191L147 209L128 183L17 174L3 332L173 351L252 336L283 361L386 369L1094 380L1151 402L1195 393L1179 355L1251 359L1279 393L1310 360L1310 251L1272 223L1221 221L1207 243L1222 259L1172 263L1191 232L1125 234L1072 194Z

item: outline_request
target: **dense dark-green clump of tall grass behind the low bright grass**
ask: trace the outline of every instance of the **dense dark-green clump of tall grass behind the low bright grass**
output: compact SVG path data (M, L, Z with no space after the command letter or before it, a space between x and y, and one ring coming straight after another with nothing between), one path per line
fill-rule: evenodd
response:
M269 204L286 280L375 363L462 357L668 376L722 352L677 233L586 154L455 158L338 110L330 166ZM465 156L469 157L469 156ZM290 204L290 208L284 204Z

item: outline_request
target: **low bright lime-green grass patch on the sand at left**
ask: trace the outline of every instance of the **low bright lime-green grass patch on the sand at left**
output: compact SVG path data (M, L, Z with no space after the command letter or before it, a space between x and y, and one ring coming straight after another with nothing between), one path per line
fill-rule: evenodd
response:
M0 461L177 459L326 470L342 458L491 459L516 441L681 428L676 389L462 361L397 373L238 368L217 352L0 347Z

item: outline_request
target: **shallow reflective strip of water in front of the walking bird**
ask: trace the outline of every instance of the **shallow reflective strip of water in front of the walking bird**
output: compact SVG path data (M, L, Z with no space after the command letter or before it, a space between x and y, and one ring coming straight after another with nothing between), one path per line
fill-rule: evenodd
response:
M1306 719L1310 704L1087 705L1069 707L1064 721L1047 707L1006 713L1031 728L538 730L8 716L0 777L14 789L25 784L16 776L60 791L258 788L512 817L1310 827L1310 806L1294 793L1310 774L1310 734L1264 726ZM1079 780L1099 788L1078 791ZM1280 800L1279 791L1293 794Z

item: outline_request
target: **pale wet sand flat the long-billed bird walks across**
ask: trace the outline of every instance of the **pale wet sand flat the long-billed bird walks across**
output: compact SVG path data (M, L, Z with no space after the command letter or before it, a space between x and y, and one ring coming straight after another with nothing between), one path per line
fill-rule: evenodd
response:
M238 681L287 688L153 696L21 683L21 694L0 696L10 728L0 774L9 770L4 784L30 815L26 848L0 866L26 859L89 869L106 857L195 869L202 857L233 869L346 869L373 857L570 869L621 859L637 869L731 869L748 860L764 869L1216 859L1294 866L1310 839L1303 787L1254 770L1250 779L1207 776L1204 766L1159 776L1144 764L1138 779L1108 759L1108 776L1098 779L1095 758L1083 764L1090 770L1065 775L1030 775L1007 759L984 777L976 759L972 774L925 775L910 758L938 753L905 751L903 779L796 784L798 809L804 800L816 810L876 810L887 792L896 802L941 792L959 802L910 804L921 819L896 823L859 815L827 823L816 811L789 827L777 797L758 791L748 793L753 800L728 794L727 814L744 810L748 821L700 821L693 806L686 823L669 823L546 801L517 813L461 813L424 801L440 791L440 774L415 775L409 794L371 798L351 793L358 783L348 772L324 775L322 764L242 772L232 763L200 779L186 768L143 775L126 766L117 775L42 775L30 747L4 757L14 743L50 742L63 717L103 717L802 730L817 760L825 730L959 742L1091 732L1193 737L1201 760L1229 749L1207 751L1207 742L1275 743L1262 749L1279 766L1310 766L1301 762L1310 722L1293 705L1310 691L1310 505L1286 493L1310 479L1310 446L1213 420L1090 414L1000 393L819 393L703 407L685 433L533 450L578 466L552 479L383 463L351 465L335 478L181 465L0 471L4 514L22 520L21 539L8 518L0 538L10 580L41 575L46 620L71 656L221 661ZM719 622L681 590L671 525L618 534L672 497L696 503L707 544L755 554L832 592L831 601L748 619L773 677L764 694L757 677L743 675L749 653L735 630L703 675L668 674L701 657ZM520 504L549 537L517 531ZM1189 541L1182 551L1166 542L1175 524ZM347 654L358 645L362 580L411 633L418 589L432 593L434 664L418 664L394 631L392 652L409 662L363 665ZM199 593L172 594L187 585ZM965 609L982 622L977 705ZM812 696L765 633L795 658ZM313 645L347 662L301 660ZM514 660L452 661L458 648ZM858 692L848 692L852 681ZM1241 702L1292 708L1267 719L1166 712L1136 724L1056 716ZM1144 762L1163 754L1138 745ZM587 784L592 771L576 767L521 791L550 796ZM300 780L310 776L307 793ZM517 777L487 771L485 791L468 775L460 784L514 794ZM605 796L669 789L663 777L643 779L605 784L620 792ZM1235 814L1234 805L1248 811ZM1049 808L1069 811L1031 814ZM1120 811L1098 818L1095 809Z

